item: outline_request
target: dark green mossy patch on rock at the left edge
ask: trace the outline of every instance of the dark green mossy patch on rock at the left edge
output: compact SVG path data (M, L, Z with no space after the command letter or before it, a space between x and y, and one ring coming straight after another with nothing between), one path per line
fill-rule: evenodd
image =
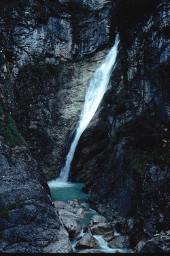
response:
M5 143L10 147L20 145L21 136L10 114L5 115L4 123L0 124L0 134L4 137Z

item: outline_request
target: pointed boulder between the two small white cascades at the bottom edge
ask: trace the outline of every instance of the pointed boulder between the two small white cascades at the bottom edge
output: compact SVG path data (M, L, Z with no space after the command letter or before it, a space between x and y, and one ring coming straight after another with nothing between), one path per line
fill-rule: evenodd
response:
M90 233L85 233L84 236L77 242L75 247L85 247L85 248L97 248L99 247L99 242L93 238Z

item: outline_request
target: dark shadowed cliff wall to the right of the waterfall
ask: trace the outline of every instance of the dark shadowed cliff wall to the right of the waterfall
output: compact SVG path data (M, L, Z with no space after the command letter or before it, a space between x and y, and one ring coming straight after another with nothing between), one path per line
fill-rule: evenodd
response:
M126 2L115 2L117 62L72 177L88 181L88 201L135 246L169 229L169 3Z

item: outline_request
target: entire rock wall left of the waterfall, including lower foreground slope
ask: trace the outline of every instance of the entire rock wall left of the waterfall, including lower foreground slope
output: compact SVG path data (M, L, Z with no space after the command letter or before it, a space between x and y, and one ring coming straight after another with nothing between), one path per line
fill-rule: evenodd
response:
M46 177L56 177L107 53L111 3L0 3L0 244L8 253L71 253ZM45 175L46 177L45 177Z

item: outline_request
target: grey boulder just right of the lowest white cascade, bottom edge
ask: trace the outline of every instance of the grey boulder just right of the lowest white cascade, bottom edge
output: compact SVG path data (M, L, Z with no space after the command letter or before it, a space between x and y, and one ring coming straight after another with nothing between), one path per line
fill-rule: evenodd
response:
M129 236L118 236L118 238L108 242L107 245L113 249L130 248Z

